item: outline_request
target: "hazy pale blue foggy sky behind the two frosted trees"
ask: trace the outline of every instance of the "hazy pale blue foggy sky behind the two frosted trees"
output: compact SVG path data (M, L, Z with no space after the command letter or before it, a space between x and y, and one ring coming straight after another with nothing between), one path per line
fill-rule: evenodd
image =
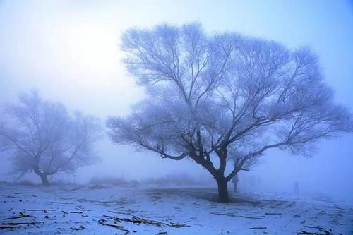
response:
M275 40L294 49L308 45L320 56L325 81L335 100L353 110L352 1L1 1L0 105L35 88L44 99L70 110L100 117L126 116L143 98L121 63L121 32L158 23L198 21L207 32L236 31ZM311 158L279 150L266 152L261 164L239 175L239 190L248 186L353 198L353 136L322 140ZM133 147L97 145L100 162L74 176L54 179L88 183L94 176L143 180L188 175L210 179L187 160L161 159ZM10 165L0 155L0 181ZM38 181L37 176L27 176ZM212 179L211 179L212 181Z

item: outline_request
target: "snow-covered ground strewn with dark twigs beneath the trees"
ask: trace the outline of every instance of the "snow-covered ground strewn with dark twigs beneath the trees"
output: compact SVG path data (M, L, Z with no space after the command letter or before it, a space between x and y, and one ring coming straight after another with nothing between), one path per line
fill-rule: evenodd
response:
M1 234L353 234L352 205L318 196L216 188L8 186Z

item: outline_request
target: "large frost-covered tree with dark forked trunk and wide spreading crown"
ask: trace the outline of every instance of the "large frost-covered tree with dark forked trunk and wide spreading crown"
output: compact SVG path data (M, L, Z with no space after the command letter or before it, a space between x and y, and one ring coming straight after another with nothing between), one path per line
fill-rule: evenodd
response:
M122 49L147 97L130 116L107 120L109 137L201 164L217 181L221 202L229 200L227 182L266 150L307 155L317 140L352 130L351 114L334 104L307 48L207 35L193 23L131 28Z

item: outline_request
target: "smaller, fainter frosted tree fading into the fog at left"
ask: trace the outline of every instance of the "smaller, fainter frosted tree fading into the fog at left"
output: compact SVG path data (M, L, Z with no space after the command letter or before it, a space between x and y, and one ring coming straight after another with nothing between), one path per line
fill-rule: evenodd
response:
M42 100L37 92L20 95L9 104L0 125L0 145L13 162L13 173L34 172L49 185L48 176L73 172L95 161L93 143L100 124L91 116L68 114L58 103Z

